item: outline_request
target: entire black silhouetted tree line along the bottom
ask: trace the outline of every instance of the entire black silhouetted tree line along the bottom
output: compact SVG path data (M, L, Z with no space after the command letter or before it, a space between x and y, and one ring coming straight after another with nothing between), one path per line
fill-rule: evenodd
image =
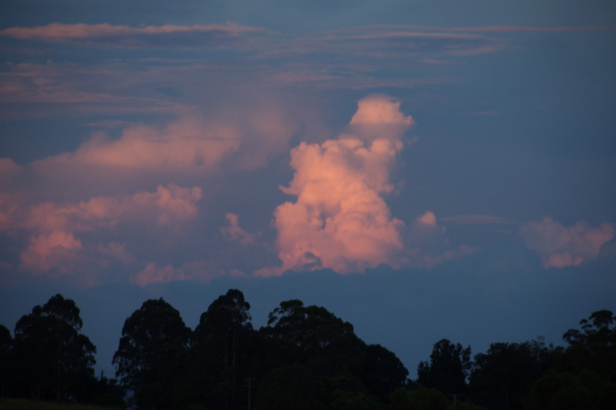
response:
M124 322L116 379L94 375L96 348L75 302L55 295L15 325L0 326L3 397L169 410L612 409L616 316L597 311L565 347L540 338L471 347L442 339L417 379L395 354L367 344L320 306L283 301L254 329L250 305L230 289L194 330L160 299ZM127 394L128 393L128 394Z

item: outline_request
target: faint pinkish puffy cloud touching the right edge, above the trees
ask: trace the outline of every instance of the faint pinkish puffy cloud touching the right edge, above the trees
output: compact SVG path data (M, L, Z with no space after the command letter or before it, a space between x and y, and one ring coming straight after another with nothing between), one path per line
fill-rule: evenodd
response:
M593 260L606 242L614 239L614 225L602 223L592 228L584 221L565 227L545 216L520 228L524 244L541 256L544 268L564 268Z

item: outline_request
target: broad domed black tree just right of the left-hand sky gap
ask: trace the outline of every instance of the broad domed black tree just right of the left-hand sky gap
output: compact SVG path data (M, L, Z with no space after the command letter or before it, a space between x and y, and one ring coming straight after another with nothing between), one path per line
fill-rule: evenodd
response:
M179 392L189 339L190 329L163 298L146 300L124 321L113 364L138 408L183 408Z

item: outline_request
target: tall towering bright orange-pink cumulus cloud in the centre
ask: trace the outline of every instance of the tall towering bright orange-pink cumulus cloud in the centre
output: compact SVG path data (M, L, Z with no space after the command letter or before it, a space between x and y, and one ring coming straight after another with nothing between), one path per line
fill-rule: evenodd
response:
M282 266L257 276L320 268L346 274L400 264L404 223L392 218L381 197L394 189L389 167L413 125L399 107L390 97L366 97L338 139L291 150L294 178L281 189L297 200L274 212Z

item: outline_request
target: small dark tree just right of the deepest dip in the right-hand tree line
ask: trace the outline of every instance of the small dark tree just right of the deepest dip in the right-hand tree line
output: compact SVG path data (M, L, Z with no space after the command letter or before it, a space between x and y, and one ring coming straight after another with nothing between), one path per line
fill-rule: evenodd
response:
M445 395L460 396L466 388L466 377L471 369L471 346L466 349L447 339L434 344L429 363L422 361L417 367L417 382L434 387Z

